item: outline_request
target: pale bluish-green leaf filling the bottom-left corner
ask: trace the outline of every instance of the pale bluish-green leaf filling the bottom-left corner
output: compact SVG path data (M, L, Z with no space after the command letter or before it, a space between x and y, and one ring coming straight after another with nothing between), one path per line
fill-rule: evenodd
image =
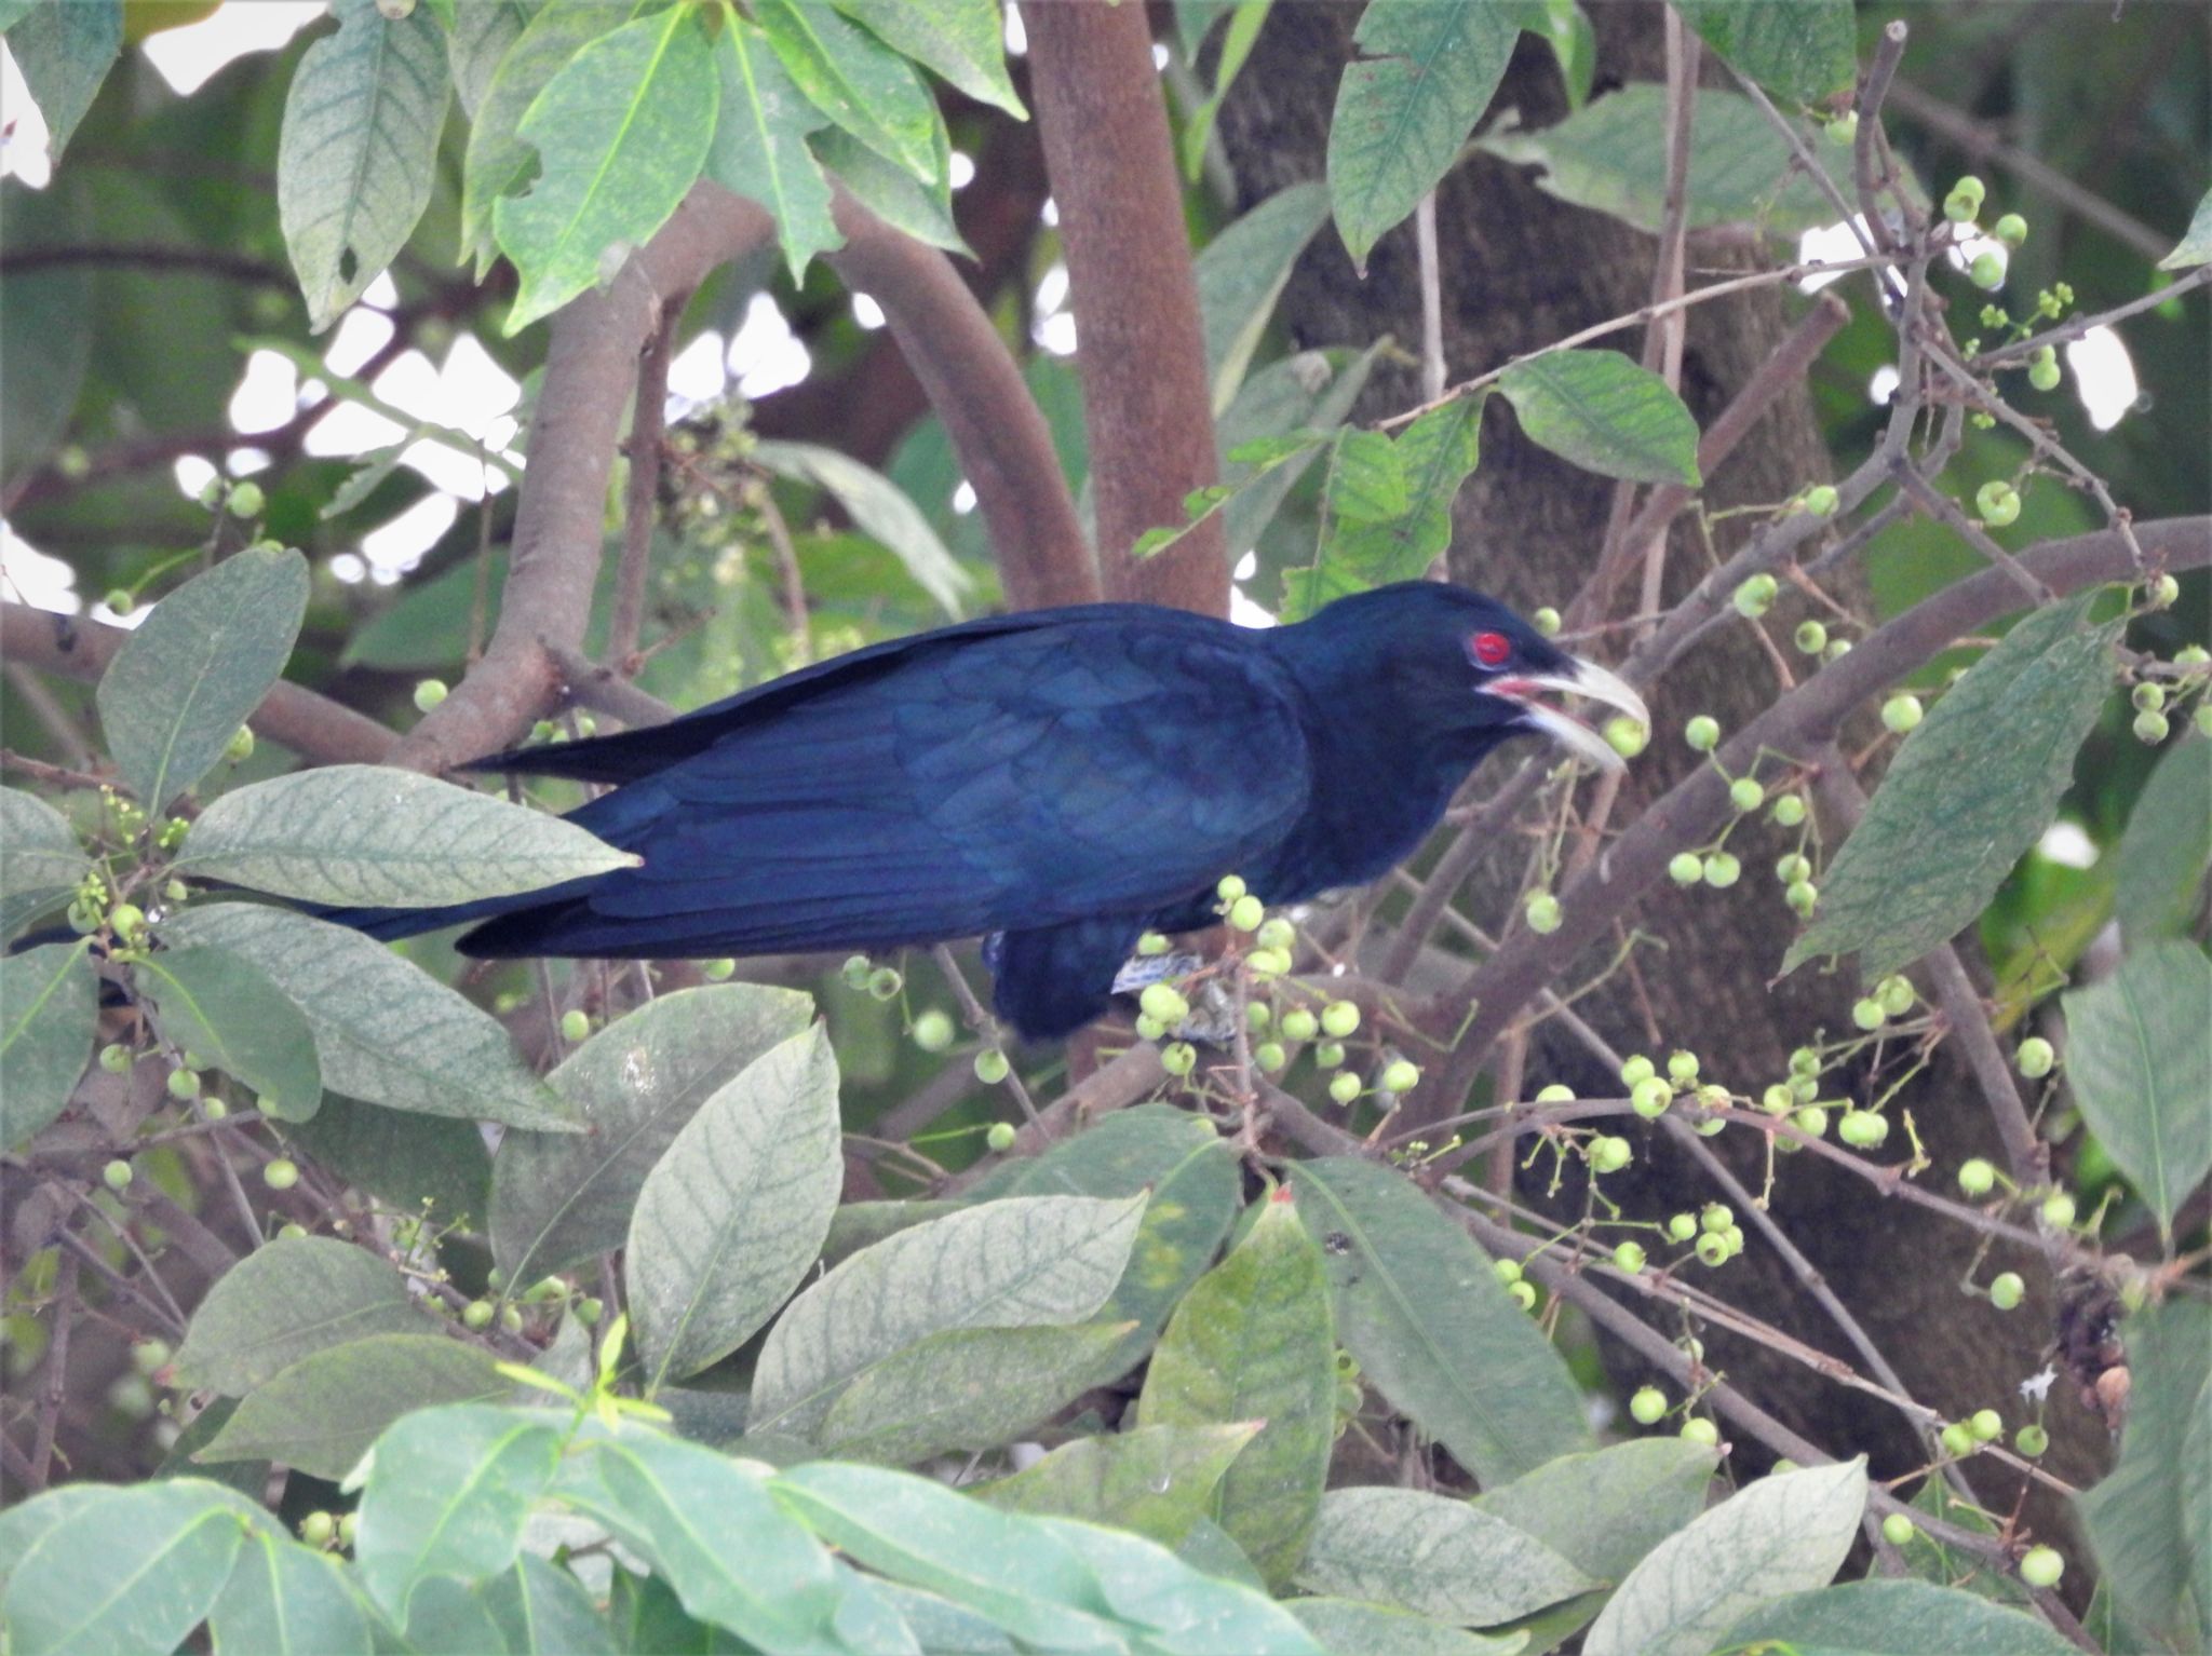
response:
M15 1656L175 1649L215 1605L252 1514L237 1490L164 1479L86 1501L9 1572L0 1627Z

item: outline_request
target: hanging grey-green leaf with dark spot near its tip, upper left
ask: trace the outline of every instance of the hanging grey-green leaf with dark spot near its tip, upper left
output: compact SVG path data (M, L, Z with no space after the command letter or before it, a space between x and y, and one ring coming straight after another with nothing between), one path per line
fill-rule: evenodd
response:
M429 7L387 18L336 0L338 33L307 46L276 142L276 217L307 327L338 321L398 256L429 206L451 73Z

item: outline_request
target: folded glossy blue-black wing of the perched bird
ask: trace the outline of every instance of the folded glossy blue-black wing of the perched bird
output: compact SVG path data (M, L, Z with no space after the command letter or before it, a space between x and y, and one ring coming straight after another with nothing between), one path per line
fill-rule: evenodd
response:
M1228 628L940 637L586 805L644 867L467 946L768 953L1148 913L1305 814L1298 705Z

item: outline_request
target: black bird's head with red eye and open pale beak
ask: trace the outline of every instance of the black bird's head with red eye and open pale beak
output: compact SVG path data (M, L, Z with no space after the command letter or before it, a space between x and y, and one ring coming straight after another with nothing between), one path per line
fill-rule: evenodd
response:
M1380 677L1405 716L1464 756L1528 734L1601 769L1621 769L1595 721L1573 712L1575 701L1650 727L1650 710L1619 674L1571 657L1504 604L1464 586L1383 586L1338 599L1305 626L1334 635L1338 652L1356 650L1369 670L1380 657Z

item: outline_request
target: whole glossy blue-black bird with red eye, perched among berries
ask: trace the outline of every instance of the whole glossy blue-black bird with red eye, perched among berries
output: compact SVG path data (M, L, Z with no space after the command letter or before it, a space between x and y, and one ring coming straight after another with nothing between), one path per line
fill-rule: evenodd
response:
M967 621L728 701L471 769L611 783L571 820L641 867L449 909L325 918L376 937L462 920L467 955L588 960L891 948L984 935L998 1015L1068 1035L1137 937L1378 878L1498 743L1619 767L1573 692L1621 679L1433 581L1241 628L1146 604Z

